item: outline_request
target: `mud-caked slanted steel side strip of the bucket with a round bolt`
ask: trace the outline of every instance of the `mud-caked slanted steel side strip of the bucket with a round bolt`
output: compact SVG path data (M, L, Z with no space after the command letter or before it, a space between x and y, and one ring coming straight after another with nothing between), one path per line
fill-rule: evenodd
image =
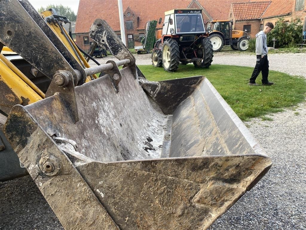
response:
M9 142L65 229L119 229L68 157L21 106L14 107L5 127Z

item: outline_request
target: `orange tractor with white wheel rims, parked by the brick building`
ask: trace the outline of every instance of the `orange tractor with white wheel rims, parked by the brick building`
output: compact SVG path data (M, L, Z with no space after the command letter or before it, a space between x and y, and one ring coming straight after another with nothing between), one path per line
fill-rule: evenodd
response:
M248 34L241 30L233 30L233 21L215 20L209 39L214 52L218 52L224 45L230 45L233 50L246 51L248 49Z

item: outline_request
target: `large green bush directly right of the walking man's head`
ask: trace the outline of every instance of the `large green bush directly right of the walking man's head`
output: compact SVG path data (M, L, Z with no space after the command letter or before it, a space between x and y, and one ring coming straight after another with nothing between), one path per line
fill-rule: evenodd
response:
M271 33L267 34L268 46L273 46L272 39L275 38L275 47L285 48L294 47L302 39L302 22L300 19L291 22L285 22L284 18L277 21Z

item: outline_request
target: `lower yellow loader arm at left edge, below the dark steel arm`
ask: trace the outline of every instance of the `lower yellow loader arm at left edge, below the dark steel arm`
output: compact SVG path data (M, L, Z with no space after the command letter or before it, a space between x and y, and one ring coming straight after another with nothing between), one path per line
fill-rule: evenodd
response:
M2 59L0 59L0 80L2 80L12 90L21 102L26 99L28 104L31 104L43 99L13 70L11 70Z

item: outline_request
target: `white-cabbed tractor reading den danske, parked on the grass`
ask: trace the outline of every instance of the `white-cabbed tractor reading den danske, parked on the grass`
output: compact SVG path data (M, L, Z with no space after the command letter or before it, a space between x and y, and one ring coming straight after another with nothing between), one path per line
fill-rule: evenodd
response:
M163 66L169 72L177 71L180 62L208 68L214 54L207 37L202 10L175 9L165 12L162 36L152 50L152 65Z

